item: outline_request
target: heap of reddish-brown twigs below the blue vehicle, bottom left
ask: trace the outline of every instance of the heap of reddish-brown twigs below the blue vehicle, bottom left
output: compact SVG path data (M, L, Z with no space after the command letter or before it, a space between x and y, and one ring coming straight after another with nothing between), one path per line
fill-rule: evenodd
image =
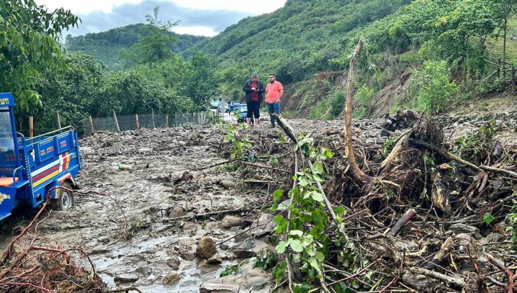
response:
M3 253L0 260L0 290L110 292L103 280L97 276L94 264L84 250L61 248L59 243L38 233L38 225L45 220L40 220L40 216L49 202L50 197L31 223L24 227ZM83 268L82 261L87 261L90 271Z

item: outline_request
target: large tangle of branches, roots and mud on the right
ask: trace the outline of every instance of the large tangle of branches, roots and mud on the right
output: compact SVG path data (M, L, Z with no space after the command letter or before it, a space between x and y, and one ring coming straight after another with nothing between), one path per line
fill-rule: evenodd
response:
M289 206L289 214L300 208L289 201L296 186L293 176L303 168L312 170L316 161L296 149L310 142L310 147L333 153L323 161L319 193L329 201L329 215L342 206L350 216L335 223L329 216L323 233L331 244L319 272L314 271L317 266L307 268L292 248L287 248L287 258L280 249L277 263L286 260L288 268L277 285L291 289L304 284L326 292L514 292L517 140L513 120L507 118L472 121L480 127L469 133L456 128L446 133L437 119L413 112L399 112L380 123L357 121L372 124L366 135L357 128L352 132L365 180L351 172L339 128L298 121L295 128L306 130L300 135L278 118L285 135L254 128L234 133L237 140L253 142L244 162L236 165L243 179L238 188L283 190L279 202ZM498 133L511 140L497 140ZM454 134L457 138L448 141ZM223 144L221 153L229 157L232 145ZM313 228L306 223L304 235ZM286 236L282 232L270 239L279 243Z

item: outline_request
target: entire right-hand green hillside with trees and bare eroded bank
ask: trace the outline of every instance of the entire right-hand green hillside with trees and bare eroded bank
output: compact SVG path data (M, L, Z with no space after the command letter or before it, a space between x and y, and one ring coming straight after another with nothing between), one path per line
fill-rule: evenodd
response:
M384 110L432 106L440 112L452 100L501 89L474 81L492 73L484 59L502 58L504 38L504 59L516 59L511 35L516 6L514 0L291 0L274 13L228 27L194 50L217 54L227 96L242 96L240 84L249 72L277 73L288 85L289 111L331 119L342 110L342 84L335 74L317 73L346 69L363 36L357 117L372 113L372 99L388 95L391 100L380 102L388 104ZM325 76L333 79L320 80ZM402 79L397 93L381 91ZM296 101L289 100L293 97Z

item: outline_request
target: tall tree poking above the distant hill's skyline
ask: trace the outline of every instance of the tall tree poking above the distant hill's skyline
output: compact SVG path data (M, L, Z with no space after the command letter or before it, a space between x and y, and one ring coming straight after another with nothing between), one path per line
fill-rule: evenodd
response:
M129 50L120 52L122 59L126 61L126 67L142 63L156 63L173 56L174 53L170 50L170 46L178 39L170 33L170 29L178 22L161 22L158 20L159 10L159 6L154 6L153 15L145 16L149 25L143 27L142 36L138 42Z

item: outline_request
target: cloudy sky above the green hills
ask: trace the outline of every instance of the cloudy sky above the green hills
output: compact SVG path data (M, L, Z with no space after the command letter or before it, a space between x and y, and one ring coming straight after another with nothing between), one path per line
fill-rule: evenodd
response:
M180 23L177 33L215 36L231 24L249 15L270 13L284 6L286 0L36 0L50 10L63 7L78 15L79 29L73 36L106 31L126 24L145 23L145 15L160 6L159 19ZM64 33L64 35L68 34Z

